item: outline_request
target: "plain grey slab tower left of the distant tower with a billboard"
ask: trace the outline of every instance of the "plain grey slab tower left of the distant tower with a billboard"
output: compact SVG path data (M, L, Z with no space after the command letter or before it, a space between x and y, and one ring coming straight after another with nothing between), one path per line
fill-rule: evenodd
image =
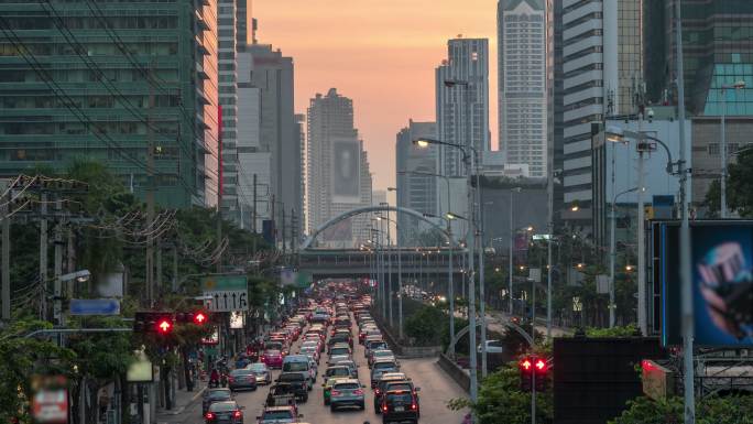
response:
M251 86L259 88L261 94L259 149L269 152L271 160L269 195L258 199L259 207L266 205L268 210L275 210L271 219L275 220L277 228L282 227L284 210L285 226L291 228L293 211L299 218L303 210L301 137L293 109L293 58L283 56L280 50L273 50L269 44L250 44L244 52L252 61ZM302 229L298 219L296 233L301 235ZM279 237L282 238L280 231Z

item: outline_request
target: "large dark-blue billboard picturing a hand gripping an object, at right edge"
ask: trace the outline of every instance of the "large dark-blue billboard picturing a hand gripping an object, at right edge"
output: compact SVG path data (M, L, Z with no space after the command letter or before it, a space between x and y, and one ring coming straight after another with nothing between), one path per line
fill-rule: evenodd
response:
M655 275L662 286L662 343L678 345L679 224L659 222L653 236L658 249ZM696 346L753 346L753 221L692 221L690 238Z

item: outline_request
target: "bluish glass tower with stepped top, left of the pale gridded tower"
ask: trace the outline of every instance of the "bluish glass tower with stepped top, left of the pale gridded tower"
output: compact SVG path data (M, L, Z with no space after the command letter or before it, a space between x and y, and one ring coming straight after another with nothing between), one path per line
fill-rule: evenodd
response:
M449 40L447 59L436 68L435 77L439 140L473 146L482 155L491 148L489 40ZM462 154L457 149L443 146L440 156L445 175L465 175Z

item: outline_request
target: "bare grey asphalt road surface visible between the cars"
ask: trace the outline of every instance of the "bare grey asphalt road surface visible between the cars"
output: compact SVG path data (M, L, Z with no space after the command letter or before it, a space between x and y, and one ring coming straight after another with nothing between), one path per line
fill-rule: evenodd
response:
M353 334L357 334L357 328L353 329ZM299 343L294 344L291 351L296 354L298 346ZM325 406L321 374L327 368L327 355L323 354L319 363L319 377L314 389L309 392L308 402L298 404L298 410L303 414L302 422L310 424L362 424L369 421L371 424L381 424L381 415L376 415L373 411L373 391L369 389L369 367L363 357L363 347L358 345L358 341L354 344L353 360L359 366L361 383L367 385L364 389L367 393L365 410L343 409L332 413L329 411L329 406ZM422 417L419 422L427 424L460 424L462 422L465 413L448 410L447 402L454 398L467 396L467 393L437 366L436 358L401 359L400 362L401 371L405 372L421 388ZM273 371L273 379L279 373L279 370ZM244 424L257 422L255 417L261 414L268 393L269 389L264 385L260 385L257 391L236 393L238 403L245 406ZM186 407L182 414L160 421L183 424L204 423L200 399Z

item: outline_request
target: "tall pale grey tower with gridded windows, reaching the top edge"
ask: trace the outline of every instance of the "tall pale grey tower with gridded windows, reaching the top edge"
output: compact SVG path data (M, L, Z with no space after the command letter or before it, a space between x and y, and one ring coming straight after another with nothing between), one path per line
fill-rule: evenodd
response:
M544 0L498 3L500 150L510 164L547 173L547 33Z

